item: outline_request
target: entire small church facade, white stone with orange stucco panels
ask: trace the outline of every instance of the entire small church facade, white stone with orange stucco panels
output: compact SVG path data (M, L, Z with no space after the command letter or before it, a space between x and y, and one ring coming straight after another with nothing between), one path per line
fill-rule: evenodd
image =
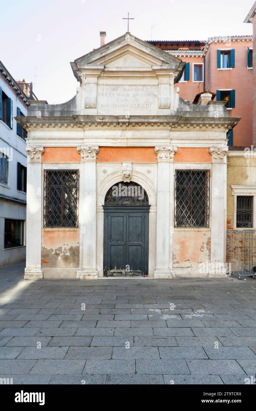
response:
M25 278L225 277L227 133L185 63L130 33L71 63L69 102L32 102Z

